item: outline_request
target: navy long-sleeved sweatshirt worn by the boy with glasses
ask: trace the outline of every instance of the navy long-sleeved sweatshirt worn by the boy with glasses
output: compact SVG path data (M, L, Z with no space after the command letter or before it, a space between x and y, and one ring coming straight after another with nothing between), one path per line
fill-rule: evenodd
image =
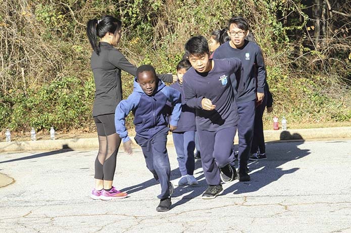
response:
M233 48L229 42L227 41L219 46L215 50L213 58L236 57L241 60L243 73L240 84L234 84L233 86L235 87L235 99L237 103L255 100L256 92L265 92L266 68L261 48L256 43L247 40L241 48ZM237 87L242 87L242 90Z

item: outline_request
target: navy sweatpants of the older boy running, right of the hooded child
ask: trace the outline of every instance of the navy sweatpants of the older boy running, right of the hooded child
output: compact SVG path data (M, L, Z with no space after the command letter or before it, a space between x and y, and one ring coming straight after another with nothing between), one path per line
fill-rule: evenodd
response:
M219 185L221 177L219 168L234 161L232 145L236 126L215 132L197 130L201 148L201 161L208 185Z

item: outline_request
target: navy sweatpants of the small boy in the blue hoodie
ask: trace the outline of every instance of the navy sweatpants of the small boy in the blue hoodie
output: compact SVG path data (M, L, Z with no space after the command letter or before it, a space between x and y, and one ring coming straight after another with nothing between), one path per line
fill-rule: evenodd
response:
M166 127L156 133L152 138L146 139L136 135L136 143L141 146L144 154L146 167L154 175L155 179L161 184L161 194L157 197L164 199L169 197L169 179L171 167L167 153L167 135L169 128Z

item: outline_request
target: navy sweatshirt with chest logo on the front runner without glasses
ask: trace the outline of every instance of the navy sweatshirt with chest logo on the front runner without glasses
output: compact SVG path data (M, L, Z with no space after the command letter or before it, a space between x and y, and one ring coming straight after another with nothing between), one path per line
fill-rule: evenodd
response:
M212 60L210 60L212 61ZM241 70L237 58L213 59L212 70L199 73L190 68L183 75L183 89L186 104L196 110L196 128L217 131L237 125L238 112L232 88L235 72ZM210 99L216 108L202 109L203 98Z

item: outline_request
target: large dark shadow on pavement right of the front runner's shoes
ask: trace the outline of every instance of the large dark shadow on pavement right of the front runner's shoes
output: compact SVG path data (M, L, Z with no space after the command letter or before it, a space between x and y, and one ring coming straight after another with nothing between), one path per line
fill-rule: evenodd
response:
M285 139L294 141L284 142ZM280 134L280 140L267 143L267 160L248 162L249 170L255 171L250 173L251 181L237 182L228 187L222 195L255 192L279 180L284 175L296 172L299 168L282 170L280 166L289 161L301 159L311 153L309 149L298 148L298 145L303 144L304 141L302 136L297 133L291 135L288 131L283 131Z

